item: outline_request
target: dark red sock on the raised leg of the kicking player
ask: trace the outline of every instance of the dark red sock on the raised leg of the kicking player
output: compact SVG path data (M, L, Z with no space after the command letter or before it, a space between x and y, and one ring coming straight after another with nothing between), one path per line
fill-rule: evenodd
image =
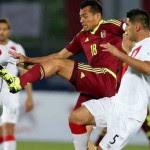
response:
M21 75L20 78L20 84L24 88L27 83L33 83L41 79L41 69L42 66L40 64L37 64L33 66L31 69L29 69L26 73Z

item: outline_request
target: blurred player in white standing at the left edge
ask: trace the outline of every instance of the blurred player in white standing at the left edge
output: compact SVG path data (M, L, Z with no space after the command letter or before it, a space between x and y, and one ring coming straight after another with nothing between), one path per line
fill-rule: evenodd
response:
M9 39L10 25L6 19L0 19L0 64L7 68L12 74L17 75L24 70L18 70L16 60L8 53L15 50L25 54L23 47ZM25 104L26 111L33 108L31 85L26 88L27 99ZM19 94L9 92L6 82L0 79L0 101L3 105L0 127L0 150L16 150L15 125L19 114Z

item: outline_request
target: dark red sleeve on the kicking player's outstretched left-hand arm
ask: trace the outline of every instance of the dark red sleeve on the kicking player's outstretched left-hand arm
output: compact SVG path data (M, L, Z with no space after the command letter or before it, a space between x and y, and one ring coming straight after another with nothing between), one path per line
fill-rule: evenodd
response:
M65 48L73 54L80 53L82 51L80 33L75 35L73 40Z

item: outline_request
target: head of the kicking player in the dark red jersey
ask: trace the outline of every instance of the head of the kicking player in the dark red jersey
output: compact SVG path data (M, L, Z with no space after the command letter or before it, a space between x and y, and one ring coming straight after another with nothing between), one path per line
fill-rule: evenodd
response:
M102 19L99 0L83 0L80 4L80 22L85 31L93 30Z

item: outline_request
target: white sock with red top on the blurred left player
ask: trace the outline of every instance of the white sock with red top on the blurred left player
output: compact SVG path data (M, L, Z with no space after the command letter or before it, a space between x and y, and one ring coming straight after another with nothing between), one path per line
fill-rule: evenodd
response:
M3 150L16 150L16 138L14 135L3 137Z

